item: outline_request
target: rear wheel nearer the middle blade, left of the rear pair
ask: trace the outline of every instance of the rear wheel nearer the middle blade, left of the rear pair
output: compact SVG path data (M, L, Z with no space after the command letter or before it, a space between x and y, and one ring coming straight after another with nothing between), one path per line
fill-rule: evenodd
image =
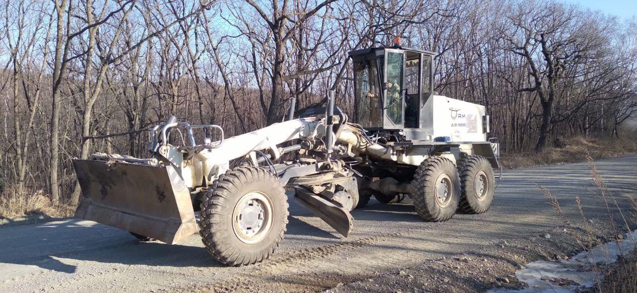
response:
M447 221L454 216L460 196L460 178L452 161L433 156L420 163L413 175L410 197L426 221Z

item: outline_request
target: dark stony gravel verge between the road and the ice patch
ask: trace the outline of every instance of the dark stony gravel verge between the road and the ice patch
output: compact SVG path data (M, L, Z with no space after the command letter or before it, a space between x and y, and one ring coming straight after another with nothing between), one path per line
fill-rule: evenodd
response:
M591 225L593 226L593 225ZM494 288L521 289L517 269L536 260L568 259L598 242L612 238L605 225L594 225L591 234L558 226L552 233L484 245L454 257L443 257L417 266L372 276L326 292L484 292ZM594 232L593 232L594 231ZM548 235L549 238L546 238ZM555 284L555 287L559 285Z

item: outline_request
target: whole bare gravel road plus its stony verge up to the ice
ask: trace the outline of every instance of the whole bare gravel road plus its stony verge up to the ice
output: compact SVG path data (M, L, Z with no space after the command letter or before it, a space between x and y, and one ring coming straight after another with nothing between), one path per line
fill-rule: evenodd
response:
M631 215L637 155L596 165L606 196ZM447 222L420 220L409 201L371 201L352 212L349 238L292 203L281 247L240 268L215 262L197 235L166 245L72 218L0 226L0 292L484 292L521 286L512 275L529 261L569 257L613 237L585 163L506 170L498 184L489 212Z

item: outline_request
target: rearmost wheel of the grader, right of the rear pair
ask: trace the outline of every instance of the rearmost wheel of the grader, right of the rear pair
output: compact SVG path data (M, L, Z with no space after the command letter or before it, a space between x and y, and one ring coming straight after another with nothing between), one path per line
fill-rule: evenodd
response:
M466 156L458 163L462 184L459 208L467 214L487 212L493 201L496 175L483 156Z

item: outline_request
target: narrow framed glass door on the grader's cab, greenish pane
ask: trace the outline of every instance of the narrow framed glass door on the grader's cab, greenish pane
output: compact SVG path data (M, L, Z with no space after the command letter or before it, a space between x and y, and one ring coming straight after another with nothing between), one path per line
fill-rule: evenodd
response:
M404 128L404 51L385 49L383 126Z

